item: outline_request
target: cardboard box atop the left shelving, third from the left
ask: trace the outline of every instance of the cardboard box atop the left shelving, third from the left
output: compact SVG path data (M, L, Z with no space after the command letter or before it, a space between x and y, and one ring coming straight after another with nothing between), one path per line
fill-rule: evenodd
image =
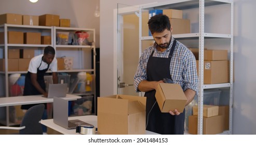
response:
M60 25L60 16L45 14L39 16L39 25L40 26L59 26Z

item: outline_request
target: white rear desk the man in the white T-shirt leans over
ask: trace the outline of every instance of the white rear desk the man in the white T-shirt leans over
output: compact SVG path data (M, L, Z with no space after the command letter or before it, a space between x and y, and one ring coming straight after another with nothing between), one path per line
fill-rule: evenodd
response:
M81 96L66 94L66 97L63 97L63 98L67 100L76 100L81 98ZM0 107L26 105L26 104L52 103L52 102L53 102L53 98L45 98L45 97L42 97L42 95L0 97Z

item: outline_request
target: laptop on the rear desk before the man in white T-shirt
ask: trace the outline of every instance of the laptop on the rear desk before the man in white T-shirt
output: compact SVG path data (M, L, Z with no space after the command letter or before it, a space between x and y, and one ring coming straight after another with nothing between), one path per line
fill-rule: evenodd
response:
M66 97L66 90L68 90L68 83L50 83L47 98Z

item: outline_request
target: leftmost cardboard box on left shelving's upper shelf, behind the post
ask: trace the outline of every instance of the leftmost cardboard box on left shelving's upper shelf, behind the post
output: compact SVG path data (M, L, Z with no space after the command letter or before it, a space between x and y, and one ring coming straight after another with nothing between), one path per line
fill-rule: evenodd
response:
M0 44L4 44L4 32L0 32ZM7 32L8 44L23 44L23 32L8 31Z

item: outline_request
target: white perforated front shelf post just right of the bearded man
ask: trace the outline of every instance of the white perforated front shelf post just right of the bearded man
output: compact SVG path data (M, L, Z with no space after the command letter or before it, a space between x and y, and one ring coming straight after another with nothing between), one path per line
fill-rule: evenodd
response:
M203 134L203 105L204 105L204 24L205 1L199 0L199 92L197 134Z

